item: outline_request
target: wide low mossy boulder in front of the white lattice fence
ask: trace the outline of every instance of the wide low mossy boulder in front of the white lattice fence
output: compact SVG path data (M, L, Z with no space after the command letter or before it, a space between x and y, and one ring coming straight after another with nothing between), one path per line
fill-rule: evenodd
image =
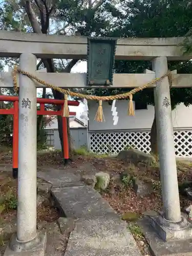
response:
M150 166L152 163L156 162L155 157L141 152L139 150L125 150L119 152L117 156L118 159L126 162L132 162L134 164L145 164Z

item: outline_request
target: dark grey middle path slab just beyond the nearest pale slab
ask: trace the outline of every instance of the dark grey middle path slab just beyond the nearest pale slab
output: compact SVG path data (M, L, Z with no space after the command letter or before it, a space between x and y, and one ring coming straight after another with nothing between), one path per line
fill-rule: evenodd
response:
M51 193L65 215L69 218L94 218L116 216L114 210L89 186L52 188Z

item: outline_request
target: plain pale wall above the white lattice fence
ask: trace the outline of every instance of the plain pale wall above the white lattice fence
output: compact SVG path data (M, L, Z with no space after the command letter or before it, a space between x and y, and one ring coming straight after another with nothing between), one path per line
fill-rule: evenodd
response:
M113 116L111 105L103 102L103 113L105 122L94 121L98 102L89 102L89 131L103 130L135 130L135 129L151 129L154 119L154 106L148 105L147 110L136 110L135 116L127 116L128 100L116 101L118 112L118 123L113 125ZM183 103L177 106L172 112L173 126L175 129L192 127L192 106L186 107Z

